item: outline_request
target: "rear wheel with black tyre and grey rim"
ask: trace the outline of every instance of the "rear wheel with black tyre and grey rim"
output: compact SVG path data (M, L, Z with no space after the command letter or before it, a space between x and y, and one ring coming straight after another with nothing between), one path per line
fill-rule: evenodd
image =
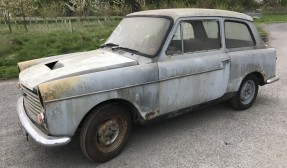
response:
M246 110L252 106L258 93L258 79L255 75L245 77L235 97L231 99L231 105L236 110Z

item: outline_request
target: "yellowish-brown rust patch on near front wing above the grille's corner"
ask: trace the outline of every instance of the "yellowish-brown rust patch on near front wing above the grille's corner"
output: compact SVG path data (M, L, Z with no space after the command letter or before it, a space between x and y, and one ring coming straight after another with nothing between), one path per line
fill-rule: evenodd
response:
M54 99L72 96L71 93L69 94L67 92L75 88L79 81L80 77L76 76L40 84L39 90L43 101L46 102Z

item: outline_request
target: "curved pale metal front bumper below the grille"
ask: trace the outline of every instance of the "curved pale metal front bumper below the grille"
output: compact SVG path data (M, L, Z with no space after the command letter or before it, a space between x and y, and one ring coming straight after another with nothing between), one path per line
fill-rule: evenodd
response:
M68 144L71 141L70 137L48 136L44 134L39 128L37 128L25 112L23 106L23 97L20 97L17 101L17 112L22 127L37 143L43 146L62 146Z

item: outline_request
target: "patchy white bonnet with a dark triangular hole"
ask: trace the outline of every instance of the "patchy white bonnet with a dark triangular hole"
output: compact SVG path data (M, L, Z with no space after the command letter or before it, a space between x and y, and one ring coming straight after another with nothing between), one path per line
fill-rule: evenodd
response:
M137 64L133 59L109 51L94 50L32 66L21 72L19 81L32 89L51 80Z

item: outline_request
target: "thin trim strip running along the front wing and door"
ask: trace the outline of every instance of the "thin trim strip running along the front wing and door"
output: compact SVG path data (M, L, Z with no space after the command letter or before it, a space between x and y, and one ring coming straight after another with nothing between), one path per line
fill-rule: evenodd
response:
M183 78L183 77L187 77L187 76L191 76L191 75L199 75L199 74L202 74L202 73L219 71L221 69L222 68L217 68L217 69L208 70L208 71L202 71L202 72L197 72L197 73L190 73L190 74L187 74L187 75L178 75L178 76L174 76L174 77L166 78L166 79L162 79L162 80L150 81L150 82L145 82L145 83L140 83L140 84L124 86L124 87L118 87L118 88L113 88L113 89L97 91L97 92L91 92L91 93L87 93L87 94L81 94L81 95L76 95L76 96L70 96L70 97L65 97L65 98L60 98L60 99L49 100L49 101L45 101L44 103L51 103L51 102L56 102L56 101L74 99L74 98L78 98L78 97L90 96L90 95L94 95L94 94L110 92L110 91L114 91L114 90L118 90L118 89L126 89L126 88L141 86L141 85L147 85L147 84L152 84L152 83L156 83L156 82L164 82L164 81L168 81L168 80L172 80L172 79L176 79L176 78Z

